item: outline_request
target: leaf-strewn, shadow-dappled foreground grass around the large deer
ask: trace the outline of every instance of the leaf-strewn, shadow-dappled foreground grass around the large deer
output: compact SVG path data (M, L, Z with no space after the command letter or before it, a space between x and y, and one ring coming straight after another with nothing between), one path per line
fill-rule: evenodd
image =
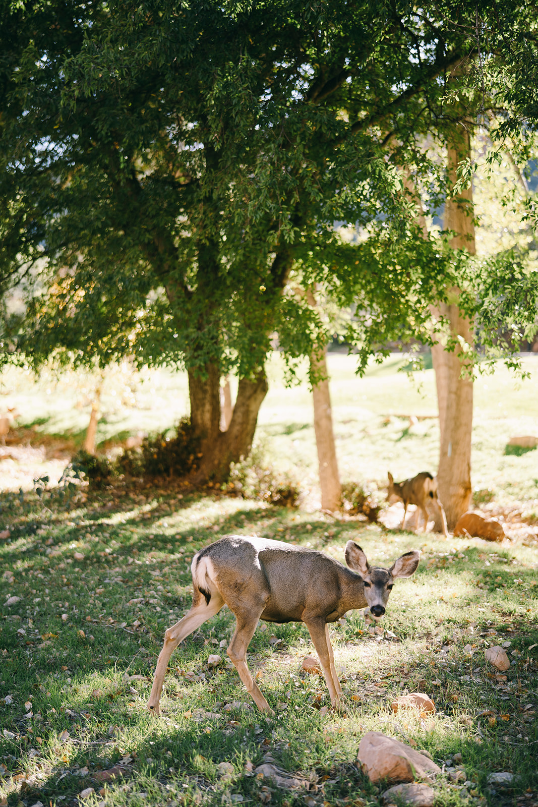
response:
M1 504L10 537L0 546L0 804L76 805L92 787L88 805L377 805L383 788L355 764L368 730L440 764L461 753L469 784L441 777L438 805L536 800L535 549L407 535L186 489L80 494L69 512L33 495L4 493ZM163 717L145 710L165 629L190 607L190 558L226 532L285 537L340 559L351 537L383 564L423 550L415 576L394 587L383 633L359 613L332 626L344 713L326 713L323 679L300 670L312 651L304 626L263 623L248 658L277 717L257 712L220 646L234 624L226 608L173 655ZM2 607L12 596L20 599ZM484 650L507 642L511 668L497 678ZM215 669L211 653L223 657ZM394 697L417 690L433 696L436 715L394 715ZM253 775L268 758L310 789ZM121 760L125 776L100 794L94 777ZM520 778L493 792L491 771Z

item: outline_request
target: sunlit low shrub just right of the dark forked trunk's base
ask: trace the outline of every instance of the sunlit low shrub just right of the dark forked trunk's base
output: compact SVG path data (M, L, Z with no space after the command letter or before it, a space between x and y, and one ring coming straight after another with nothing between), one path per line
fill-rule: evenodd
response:
M248 458L231 463L225 489L244 499L259 499L289 508L298 504L301 493L298 483L289 474L267 462L260 443L253 446Z

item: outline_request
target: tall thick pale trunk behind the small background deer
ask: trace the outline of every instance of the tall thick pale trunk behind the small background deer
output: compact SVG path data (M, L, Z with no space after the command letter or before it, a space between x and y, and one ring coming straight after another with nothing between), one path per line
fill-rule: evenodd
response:
M463 126L453 128L448 141L448 182L457 182L457 165L470 157L469 132ZM453 249L466 249L474 254L473 190L462 190L448 197L444 207L444 229L453 230ZM460 337L463 344L473 345L473 323L458 307L458 290L450 289L450 303L443 303L439 316L448 321L451 339ZM471 500L471 431L473 426L472 367L459 341L451 352L437 344L432 350L436 370L439 403L440 459L437 471L439 497L444 504L448 529L454 529L458 518Z

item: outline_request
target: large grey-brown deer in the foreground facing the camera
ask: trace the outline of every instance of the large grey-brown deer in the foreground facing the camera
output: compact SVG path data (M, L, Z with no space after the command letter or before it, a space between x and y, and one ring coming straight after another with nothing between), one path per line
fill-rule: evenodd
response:
M247 665L247 648L259 620L304 622L311 635L332 709L343 696L336 674L328 625L354 608L369 608L374 620L385 613L394 579L411 577L418 551L402 554L389 569L372 567L353 541L345 547L347 566L318 550L269 538L227 535L194 555L193 602L180 621L165 632L157 659L148 709L160 713L166 668L177 645L224 605L236 617L227 655L258 709L273 715Z

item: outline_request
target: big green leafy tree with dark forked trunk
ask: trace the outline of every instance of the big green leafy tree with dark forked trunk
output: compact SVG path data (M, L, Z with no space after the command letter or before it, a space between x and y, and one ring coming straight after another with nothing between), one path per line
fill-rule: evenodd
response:
M435 170L411 136L438 125L445 77L477 49L474 6L3 10L0 270L29 297L7 324L11 353L180 362L199 477L219 478L248 454L272 334L291 365L319 342L290 284L327 282L357 306L362 367L423 332L453 267L415 237L386 138L424 178ZM344 244L336 221L368 237Z

